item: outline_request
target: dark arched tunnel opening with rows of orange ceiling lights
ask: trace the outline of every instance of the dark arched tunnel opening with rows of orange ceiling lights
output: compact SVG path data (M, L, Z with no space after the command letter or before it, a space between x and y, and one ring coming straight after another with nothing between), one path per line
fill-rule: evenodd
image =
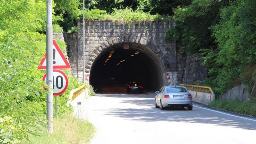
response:
M106 86L123 86L138 82L144 89L159 90L166 85L160 58L138 43L117 43L104 50L93 61L89 84L102 93Z

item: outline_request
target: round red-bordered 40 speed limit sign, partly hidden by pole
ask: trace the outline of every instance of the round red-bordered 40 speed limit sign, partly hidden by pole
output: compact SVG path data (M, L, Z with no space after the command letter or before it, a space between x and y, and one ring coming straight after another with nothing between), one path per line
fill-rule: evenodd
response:
M46 73L42 78L46 82ZM47 83L47 82L46 82ZM44 87L44 86L43 86ZM63 94L68 88L68 77L67 75L61 70L53 70L53 95L61 95ZM46 90L46 87L44 87Z

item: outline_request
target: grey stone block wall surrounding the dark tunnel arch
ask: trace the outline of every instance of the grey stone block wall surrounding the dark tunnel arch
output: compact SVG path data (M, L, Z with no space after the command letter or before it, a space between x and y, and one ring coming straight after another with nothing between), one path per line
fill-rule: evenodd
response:
M82 23L78 22L81 30L73 34L64 34L68 46L68 57L71 72L82 81L83 74L83 32ZM166 42L165 32L174 27L171 19L157 19L138 23L123 24L108 20L86 20L85 22L85 73L86 82L89 80L90 69L101 51L114 44L123 42L137 43L153 51L160 59L166 72L169 85L202 83L206 78L206 68L198 60L199 54L183 55L175 42ZM164 84L164 85L167 85Z

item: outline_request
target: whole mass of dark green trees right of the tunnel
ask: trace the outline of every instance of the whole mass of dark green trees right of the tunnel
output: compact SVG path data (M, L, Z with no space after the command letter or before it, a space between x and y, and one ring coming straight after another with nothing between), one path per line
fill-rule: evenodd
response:
M181 42L184 52L204 56L205 84L217 96L256 82L255 6L254 0L192 0L173 9L176 27L167 31L167 40Z

